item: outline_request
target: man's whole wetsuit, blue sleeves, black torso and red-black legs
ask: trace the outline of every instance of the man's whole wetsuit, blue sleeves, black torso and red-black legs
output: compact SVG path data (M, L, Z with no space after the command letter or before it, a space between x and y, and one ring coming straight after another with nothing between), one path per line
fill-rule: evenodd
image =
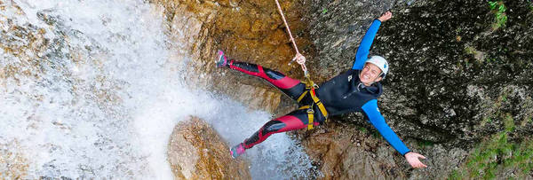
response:
M386 124L385 119L379 113L377 98L383 92L383 88L379 82L371 86L364 86L359 80L359 74L368 59L370 53L370 46L374 41L374 37L378 33L378 28L381 21L374 20L366 34L362 38L357 53L355 55L354 67L343 74L339 74L327 82L323 82L320 88L316 90L316 95L321 99L323 105L330 115L338 115L342 113L362 112L366 114L370 123L378 129L379 133L385 137L386 141L404 155L410 152L409 148L405 146L402 140L396 136L394 131ZM272 83L283 93L292 99L297 99L305 90L306 85L298 80L291 79L279 72L273 71L259 65L238 62L231 60L228 65L231 69L241 71L245 74L251 74L267 80ZM306 97L300 101L300 106L306 106L313 103L311 97ZM318 110L318 106L314 106L314 125L317 126L325 121L325 117ZM304 129L308 123L306 109L296 110L282 117L268 121L261 129L259 129L251 137L243 142L246 149L251 148L267 139L274 133L285 132L293 129Z

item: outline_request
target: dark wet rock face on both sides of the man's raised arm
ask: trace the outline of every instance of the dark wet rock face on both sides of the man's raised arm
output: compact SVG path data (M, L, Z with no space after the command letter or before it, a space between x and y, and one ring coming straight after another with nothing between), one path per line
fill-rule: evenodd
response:
M508 19L497 29L496 12L482 1L309 2L319 52L311 62L323 76L351 67L371 20L393 7L370 53L391 64L379 101L399 134L471 142L501 130L496 124L506 113L516 123L533 116L528 2L505 2ZM530 127L519 129L531 134Z

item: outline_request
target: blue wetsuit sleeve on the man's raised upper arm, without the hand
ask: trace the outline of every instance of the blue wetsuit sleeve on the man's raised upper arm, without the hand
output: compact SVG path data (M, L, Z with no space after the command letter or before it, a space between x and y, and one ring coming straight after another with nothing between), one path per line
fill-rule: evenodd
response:
M352 67L353 69L362 69L364 66L364 62L369 57L370 46L372 46L372 42L374 42L374 37L376 37L380 25L381 21L374 20L367 32L364 34L364 36L362 36L362 41L359 44L357 53L355 54L354 67Z

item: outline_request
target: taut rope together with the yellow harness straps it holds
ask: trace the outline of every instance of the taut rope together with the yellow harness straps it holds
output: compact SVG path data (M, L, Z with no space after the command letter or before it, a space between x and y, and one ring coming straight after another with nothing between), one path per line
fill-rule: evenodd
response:
M299 109L307 109L307 118L309 119L309 122L307 123L307 129L313 129L313 125L314 125L314 110L313 110L313 106L314 105L318 106L318 109L320 110L322 115L326 118L326 120L328 119L328 112L326 111L326 107L322 104L320 99L318 97L316 97L316 93L314 92L314 90L318 89L319 87L318 87L318 85L316 85L316 83L311 81L311 78L309 77L309 73L307 72L307 67L306 67L306 64L305 64L306 63L306 57L304 57L298 51L298 46L296 45L296 42L294 41L294 38L292 37L292 33L290 33L289 24L287 24L287 20L285 20L285 15L283 14L283 11L282 11L282 6L278 2L278 0L275 0L275 4L277 5L278 11L282 15L283 23L285 23L285 27L287 27L287 32L289 32L290 42L292 42L292 45L294 46L294 50L296 51L296 56L294 56L294 58L290 62L292 62L294 60L297 60L298 64L302 67L302 70L304 71L304 76L306 77L306 82L305 82L306 83L306 91L304 91L300 95L300 97L298 98L297 101L299 103L304 97L306 97L307 93L309 93L311 95L311 98L313 98L313 103L311 103L311 105L309 105L309 106L301 106L299 108Z

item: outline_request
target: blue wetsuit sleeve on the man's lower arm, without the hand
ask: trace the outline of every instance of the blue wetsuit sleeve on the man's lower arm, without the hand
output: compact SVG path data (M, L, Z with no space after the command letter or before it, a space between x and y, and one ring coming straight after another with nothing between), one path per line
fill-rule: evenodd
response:
M405 153L410 152L410 149L403 144L402 140L396 135L396 133L394 133L393 129L386 124L385 118L379 113L378 100L370 100L362 106L362 110L368 116L370 123L378 129L381 136L383 136L386 141L398 151L398 153L405 155Z

